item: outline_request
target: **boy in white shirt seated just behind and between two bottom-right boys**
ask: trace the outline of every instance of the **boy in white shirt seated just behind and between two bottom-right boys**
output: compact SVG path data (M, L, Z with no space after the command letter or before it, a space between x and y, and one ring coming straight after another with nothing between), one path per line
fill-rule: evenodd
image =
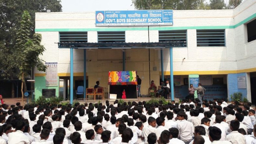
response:
M220 140L226 140L226 131L228 129L228 124L225 122L225 118L226 118L225 116L216 116L215 117L216 124L213 125L214 127L218 127L221 130ZM209 128L208 128L208 132L209 132Z

